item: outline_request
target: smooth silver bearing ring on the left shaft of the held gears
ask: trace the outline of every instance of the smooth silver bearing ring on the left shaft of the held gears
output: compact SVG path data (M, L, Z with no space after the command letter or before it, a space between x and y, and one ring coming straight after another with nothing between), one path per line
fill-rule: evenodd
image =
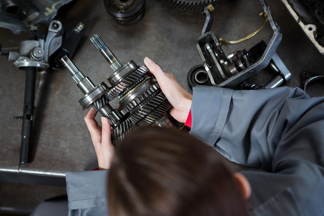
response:
M96 100L98 100L101 96L106 94L109 90L109 87L104 83L100 83L91 91L89 91L85 96L83 96L79 103L82 106L83 110L91 106Z

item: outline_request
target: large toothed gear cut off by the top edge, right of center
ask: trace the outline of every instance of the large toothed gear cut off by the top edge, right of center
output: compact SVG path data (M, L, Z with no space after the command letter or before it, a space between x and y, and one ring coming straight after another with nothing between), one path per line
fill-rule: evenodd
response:
M171 6L186 11L202 11L204 7L208 5L220 5L226 0L167 0L167 3Z

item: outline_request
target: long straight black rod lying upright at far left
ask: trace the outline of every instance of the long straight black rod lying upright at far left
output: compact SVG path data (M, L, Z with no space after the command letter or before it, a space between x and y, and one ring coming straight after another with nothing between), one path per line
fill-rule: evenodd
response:
M22 116L20 159L21 164L30 162L31 129L33 125L36 67L26 67L24 111Z

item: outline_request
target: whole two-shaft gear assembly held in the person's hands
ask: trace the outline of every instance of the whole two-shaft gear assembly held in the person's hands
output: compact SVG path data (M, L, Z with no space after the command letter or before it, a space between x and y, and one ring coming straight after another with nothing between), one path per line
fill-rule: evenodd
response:
M108 78L111 87L104 82L95 86L66 56L61 62L85 94L80 105L84 109L92 106L108 118L113 127L112 143L116 146L128 133L148 125L176 128L166 115L172 105L154 77L148 76L147 67L138 66L133 60L122 64L97 34L90 40L114 71ZM121 111L109 104L117 97Z

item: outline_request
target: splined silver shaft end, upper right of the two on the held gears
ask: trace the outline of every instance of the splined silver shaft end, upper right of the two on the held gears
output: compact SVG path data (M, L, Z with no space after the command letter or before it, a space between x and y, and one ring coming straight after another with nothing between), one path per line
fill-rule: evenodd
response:
M110 64L110 67L114 71L117 71L119 68L121 68L122 64L120 63L120 61L118 61L116 56L107 47L107 45L101 40L101 38L98 36L98 34L92 35L90 40L97 47L97 49L101 52L103 57L107 60L107 62Z

